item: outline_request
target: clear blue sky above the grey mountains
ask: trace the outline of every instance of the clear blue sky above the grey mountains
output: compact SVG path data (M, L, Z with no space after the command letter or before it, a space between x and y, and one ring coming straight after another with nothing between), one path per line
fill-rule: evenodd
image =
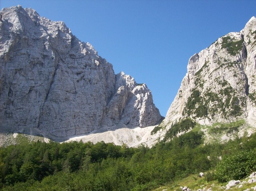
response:
M256 0L0 0L64 21L115 73L146 83L162 116L174 100L188 59L256 16Z

